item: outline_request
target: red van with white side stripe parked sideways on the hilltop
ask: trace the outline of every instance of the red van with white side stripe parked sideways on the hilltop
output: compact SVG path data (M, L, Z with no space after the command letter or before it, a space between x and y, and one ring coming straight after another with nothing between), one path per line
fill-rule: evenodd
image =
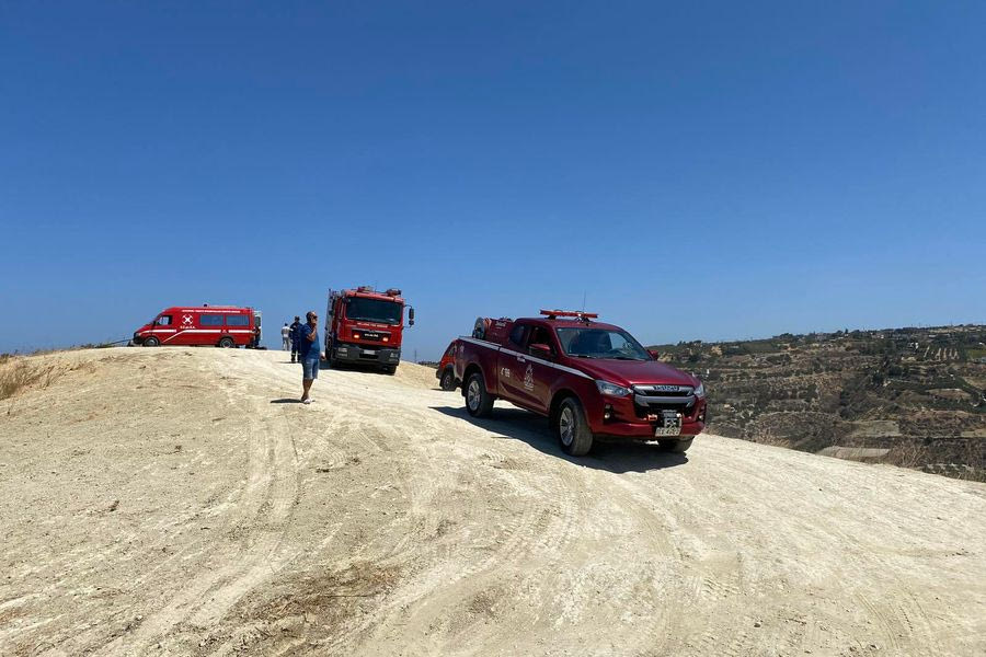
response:
M174 306L134 332L134 344L255 347L261 337L261 313L239 306Z

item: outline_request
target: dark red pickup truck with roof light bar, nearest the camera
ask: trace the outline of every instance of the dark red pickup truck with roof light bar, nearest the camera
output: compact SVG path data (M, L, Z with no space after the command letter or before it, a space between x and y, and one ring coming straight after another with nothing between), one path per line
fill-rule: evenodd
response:
M561 448L585 454L597 436L657 440L685 452L706 426L706 390L660 362L632 335L584 312L477 320L456 345L466 408L488 415L503 399L548 417Z

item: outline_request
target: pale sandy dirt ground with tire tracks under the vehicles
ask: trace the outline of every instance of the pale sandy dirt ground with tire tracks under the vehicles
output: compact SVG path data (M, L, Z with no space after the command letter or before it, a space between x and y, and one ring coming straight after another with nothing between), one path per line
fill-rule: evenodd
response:
M121 348L0 402L2 655L983 655L986 486L703 435L564 457L409 364Z

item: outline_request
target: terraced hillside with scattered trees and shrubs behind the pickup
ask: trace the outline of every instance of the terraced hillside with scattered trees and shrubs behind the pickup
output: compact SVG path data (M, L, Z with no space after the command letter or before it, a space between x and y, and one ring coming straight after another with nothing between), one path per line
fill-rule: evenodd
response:
M657 349L707 381L716 434L986 480L986 326Z

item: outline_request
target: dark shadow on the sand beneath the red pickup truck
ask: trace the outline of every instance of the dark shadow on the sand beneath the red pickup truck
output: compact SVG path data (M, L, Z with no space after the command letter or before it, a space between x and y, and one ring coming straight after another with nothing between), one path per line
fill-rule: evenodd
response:
M465 406L432 406L432 410L493 431L498 438L526 442L540 452L584 468L616 473L649 472L688 462L685 454L661 451L656 443L631 440L597 439L587 456L570 457L561 450L548 427L548 420L521 408L493 408L492 415L484 418L472 417Z

